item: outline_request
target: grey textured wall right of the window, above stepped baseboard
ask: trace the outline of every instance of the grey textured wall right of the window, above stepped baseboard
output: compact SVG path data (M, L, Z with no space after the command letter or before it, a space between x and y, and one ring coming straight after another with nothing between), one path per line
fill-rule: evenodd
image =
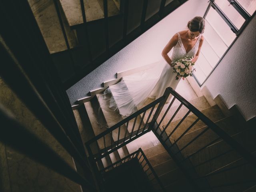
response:
M203 85L213 98L220 94L229 108L236 104L246 120L256 116L255 29L254 16Z

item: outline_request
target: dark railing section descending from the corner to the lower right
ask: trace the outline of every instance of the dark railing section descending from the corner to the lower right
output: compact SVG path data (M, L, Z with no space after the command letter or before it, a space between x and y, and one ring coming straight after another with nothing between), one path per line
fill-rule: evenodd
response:
M152 131L174 161L186 173L188 179L193 181L191 184L195 190L204 191L246 182L256 184L256 180L252 179L256 174L249 179L240 178L237 174L234 177L236 182L228 180L225 182L223 179L222 185L214 184L214 176L225 178L224 174L230 170L234 171L245 165L255 170L256 158L232 138L236 133L231 133L230 136L176 91L167 88L164 93L165 98L168 98L170 94L173 96L170 104L164 105L166 100L163 100L156 110L157 118L154 119ZM160 112L164 115L159 116ZM216 147L213 147L214 144ZM200 155L204 158L200 158ZM219 170L209 170L207 173L207 165L210 167L210 163L214 161L216 163L217 160L221 162L218 162ZM209 180L210 182L208 182Z

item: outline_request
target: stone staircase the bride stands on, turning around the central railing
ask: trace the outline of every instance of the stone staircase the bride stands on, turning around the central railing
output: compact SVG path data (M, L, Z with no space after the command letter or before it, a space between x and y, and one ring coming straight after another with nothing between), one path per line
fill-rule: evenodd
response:
M131 73L131 72L130 72ZM129 73L123 73L128 74ZM120 77L120 74L119 74ZM120 79L105 82L116 84ZM112 85L113 86L113 85ZM136 115L122 117L107 106L105 88L91 92L73 106L83 142L97 169L111 167L141 148L166 191L245 192L256 187L255 166L198 119L178 98L162 105L163 98L149 99ZM255 155L253 127L243 127L218 105L197 96L190 84L181 81L176 89L195 108ZM154 126L154 115L159 113Z

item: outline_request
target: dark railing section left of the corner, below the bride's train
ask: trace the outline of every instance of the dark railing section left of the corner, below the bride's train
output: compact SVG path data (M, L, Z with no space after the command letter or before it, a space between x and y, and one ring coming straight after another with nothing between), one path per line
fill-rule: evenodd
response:
M86 142L89 155L93 156L96 161L100 160L118 148L149 132L150 122L154 119L153 111L156 109L156 105L163 99L164 97L158 98Z

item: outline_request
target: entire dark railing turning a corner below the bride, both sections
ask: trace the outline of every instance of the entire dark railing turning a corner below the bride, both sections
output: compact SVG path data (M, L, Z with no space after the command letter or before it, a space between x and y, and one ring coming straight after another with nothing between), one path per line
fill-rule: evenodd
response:
M172 96L172 100L170 103L166 103L170 95ZM158 107L154 108L156 105L158 105ZM136 132L141 134L134 134L134 129L132 128L129 137L126 137L125 134L125 136L120 139L120 126L126 125L122 130L126 133L128 130L128 122L132 119L134 119L135 122L136 118L139 116L142 116L143 119L144 116L146 116L145 111L148 109L151 110L148 112L148 120L144 123L146 129L142 129L141 131L138 129ZM108 134L112 136L114 130L118 130L118 140L115 142L112 141L108 146L105 144L105 137ZM94 160L98 161L107 154L114 152L118 148L143 135L144 132L149 132L151 130L172 156L176 164L178 164L180 169L184 172L192 186L192 191L204 191L206 189L213 189L225 185L231 186L242 182L256 184L256 180L254 179L243 178L241 180L239 176L237 176L236 182L224 181L224 184L222 185L215 185L212 181L208 182L209 178L212 178L213 176L223 176L221 174L226 173L229 170L236 170L236 168L241 168L243 166L251 166L252 169L255 169L256 159L250 152L241 146L240 143L232 138L233 135L236 135L235 133L233 135L231 133L231 136L227 134L222 128L218 127L172 88L167 88L161 98L98 135L87 143L87 147L91 150L89 147L91 144L97 145L97 143L100 143L101 139L104 140L104 147L102 149L99 149L98 147L98 150L94 150L94 153L92 150L90 152L91 155L93 154L92 156ZM210 158L208 158L208 156L206 157L205 154L202 155L203 152L211 149L214 144L216 144L217 147L220 145L220 149L217 150L216 153L214 153L213 148L213 154L210 154ZM97 151L100 153L98 154ZM198 155L200 153L201 156L205 156L203 160L202 158L199 158L198 160ZM225 158L226 156L228 158ZM220 164L220 170L212 170L206 173L200 171L203 166L210 167L208 164L218 160L218 158L225 159L220 160L221 163L218 162L218 164ZM118 164L115 165L117 166ZM110 166L108 169L109 168L113 167Z

